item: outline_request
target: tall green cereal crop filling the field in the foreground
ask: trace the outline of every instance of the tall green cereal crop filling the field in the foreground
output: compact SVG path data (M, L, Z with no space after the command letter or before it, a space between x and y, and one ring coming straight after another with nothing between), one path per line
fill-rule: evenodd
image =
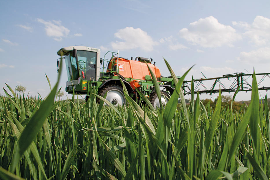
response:
M1 179L269 179L269 108L259 104L256 78L249 107L236 111L236 94L226 108L220 94L213 109L192 93L187 107L185 75L174 79L175 92L161 110L144 96L134 102L125 89L128 104L114 107L103 106L94 88L86 103L76 95L56 101L58 82L45 100L5 88Z

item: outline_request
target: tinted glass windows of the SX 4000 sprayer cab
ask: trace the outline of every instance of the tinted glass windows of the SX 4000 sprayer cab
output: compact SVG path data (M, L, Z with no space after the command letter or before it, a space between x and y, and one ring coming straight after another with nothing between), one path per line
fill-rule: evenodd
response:
M91 51L77 50L77 61L72 57L72 51L65 56L68 80L95 80L95 67L97 53Z

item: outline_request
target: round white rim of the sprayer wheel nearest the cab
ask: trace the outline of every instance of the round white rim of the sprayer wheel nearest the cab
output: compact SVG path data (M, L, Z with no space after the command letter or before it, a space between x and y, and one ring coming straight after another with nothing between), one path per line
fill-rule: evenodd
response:
M107 92L106 100L108 100L114 106L122 106L126 103L124 94L118 89L112 89Z

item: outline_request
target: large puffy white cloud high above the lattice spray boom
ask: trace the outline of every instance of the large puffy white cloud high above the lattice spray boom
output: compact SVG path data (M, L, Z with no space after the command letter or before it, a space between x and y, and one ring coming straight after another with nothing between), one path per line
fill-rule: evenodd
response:
M179 31L179 35L191 44L202 47L233 47L232 43L241 39L234 28L219 23L213 16L190 23L188 28Z

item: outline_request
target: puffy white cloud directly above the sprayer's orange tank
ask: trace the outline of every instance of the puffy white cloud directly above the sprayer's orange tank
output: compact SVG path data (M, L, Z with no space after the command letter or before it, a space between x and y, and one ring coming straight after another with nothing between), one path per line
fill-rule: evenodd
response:
M144 51L152 51L153 46L158 44L158 42L153 41L151 36L140 28L126 27L118 30L114 36L123 41L111 42L113 49L126 50L140 48Z

